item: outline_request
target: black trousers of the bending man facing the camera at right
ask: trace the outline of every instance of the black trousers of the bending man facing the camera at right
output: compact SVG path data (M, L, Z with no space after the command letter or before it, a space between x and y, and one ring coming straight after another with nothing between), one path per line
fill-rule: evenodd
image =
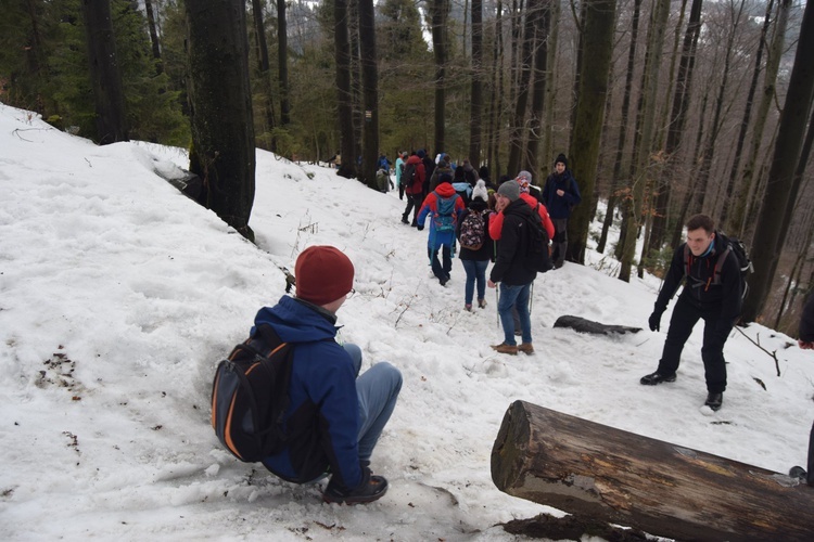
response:
M664 341L664 350L659 361L658 372L671 375L678 369L684 344L692 333L696 323L703 319L703 346L701 347L701 359L703 360L704 376L707 378L707 390L710 393L723 393L726 390L726 361L724 360L724 344L729 336L732 325L718 330L721 320L721 308L702 310L684 295L678 296L678 301L673 309L670 319L670 330Z

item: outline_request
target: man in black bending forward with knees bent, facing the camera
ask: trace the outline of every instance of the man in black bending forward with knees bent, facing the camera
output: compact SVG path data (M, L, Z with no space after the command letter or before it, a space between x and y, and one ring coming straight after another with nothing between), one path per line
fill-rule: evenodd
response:
M713 220L705 215L696 215L686 225L687 242L673 254L673 261L650 314L650 331L659 331L661 314L683 280L684 289L670 319L659 367L654 373L643 376L640 382L648 386L674 382L684 344L698 320L703 319L701 359L708 391L704 404L718 410L726 390L724 344L740 314L743 284L737 258L728 254L730 250L723 237L716 234Z

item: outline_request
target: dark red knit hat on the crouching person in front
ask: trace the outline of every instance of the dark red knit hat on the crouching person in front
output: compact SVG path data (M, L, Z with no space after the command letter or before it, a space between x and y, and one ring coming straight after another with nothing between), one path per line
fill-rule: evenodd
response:
M314 305L328 305L353 289L354 264L338 248L309 246L294 266L296 297Z

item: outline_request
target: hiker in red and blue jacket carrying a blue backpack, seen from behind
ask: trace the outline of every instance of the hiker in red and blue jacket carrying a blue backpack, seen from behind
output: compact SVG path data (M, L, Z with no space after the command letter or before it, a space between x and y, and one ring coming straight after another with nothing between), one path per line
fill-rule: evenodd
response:
M453 253L455 247L455 229L458 216L463 210L463 201L455 193L453 185L442 182L424 199L418 214L418 224L422 224L430 217L430 234L427 241L427 253L432 266L432 274L442 286L449 282L453 271ZM438 261L438 253L443 263Z

